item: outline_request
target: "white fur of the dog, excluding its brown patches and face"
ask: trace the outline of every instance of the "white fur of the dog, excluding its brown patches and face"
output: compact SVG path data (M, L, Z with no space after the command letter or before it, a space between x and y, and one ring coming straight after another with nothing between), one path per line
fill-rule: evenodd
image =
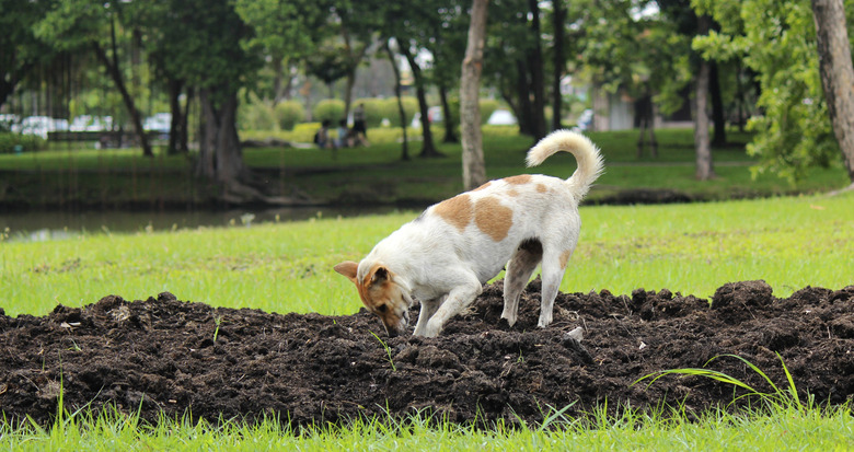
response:
M388 268L393 282L409 292L407 298L422 302L414 334L435 337L452 315L474 301L483 283L506 264L501 317L512 325L519 295L536 265L542 264L538 325L545 327L552 322L554 299L565 271L562 264L578 242L581 228L578 202L602 172L602 158L596 146L568 130L543 138L529 151L528 164L538 165L558 151L572 152L578 161L578 169L566 181L531 175L531 181L523 185L498 179L468 193L472 202L493 197L512 211L512 225L503 240L494 241L474 221L461 231L431 206L418 219L378 243L359 263L357 280L362 281L378 265ZM532 241L542 245L542 255L536 246L520 246ZM405 322L407 318L401 320L403 325L399 326L405 327Z

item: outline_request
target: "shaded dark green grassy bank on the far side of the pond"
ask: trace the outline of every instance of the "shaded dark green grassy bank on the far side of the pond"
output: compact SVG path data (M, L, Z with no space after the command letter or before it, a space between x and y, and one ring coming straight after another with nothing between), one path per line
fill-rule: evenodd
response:
M567 177L575 170L568 154L526 169L523 159L532 144L530 138L500 127L487 127L484 134L489 178L526 172ZM268 190L302 194L316 204L423 205L462 190L459 143L438 144L445 158L420 159L420 142L413 141L408 151L412 160L402 161L399 131L377 129L369 135L372 144L368 148L247 148L244 161L261 174ZM266 134L247 136L261 138ZM635 130L591 132L590 137L602 149L607 166L590 194L591 202L612 202L621 192L637 189L669 190L681 197L678 199L718 200L827 192L847 185L839 166L815 169L796 184L772 174L753 178L752 161L745 153L750 137L735 131L729 135L730 144L713 149L718 177L705 183L694 178L690 129L659 130L657 159L648 157L648 151L637 158ZM217 206L217 187L193 175L192 160L193 155L164 155L162 150L153 159L145 159L132 149L94 150L66 144L22 155L0 154L0 205L146 209Z

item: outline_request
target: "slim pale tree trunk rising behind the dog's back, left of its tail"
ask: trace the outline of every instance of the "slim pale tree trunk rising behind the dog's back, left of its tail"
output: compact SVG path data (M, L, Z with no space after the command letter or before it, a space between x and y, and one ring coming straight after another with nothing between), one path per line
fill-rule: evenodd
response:
M488 0L472 1L469 42L465 46L460 81L463 187L466 190L478 187L486 182L483 137L481 135L481 108L477 101L481 73L483 72L487 4Z

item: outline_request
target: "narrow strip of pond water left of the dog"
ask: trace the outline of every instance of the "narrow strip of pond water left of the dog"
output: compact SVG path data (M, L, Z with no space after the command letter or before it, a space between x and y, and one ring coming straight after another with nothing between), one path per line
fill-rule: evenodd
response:
M288 207L194 211L26 211L0 213L0 237L8 241L39 242L64 240L83 233L141 232L199 227L251 225L310 218L358 217L390 213L394 207ZM417 210L417 209L415 209Z

